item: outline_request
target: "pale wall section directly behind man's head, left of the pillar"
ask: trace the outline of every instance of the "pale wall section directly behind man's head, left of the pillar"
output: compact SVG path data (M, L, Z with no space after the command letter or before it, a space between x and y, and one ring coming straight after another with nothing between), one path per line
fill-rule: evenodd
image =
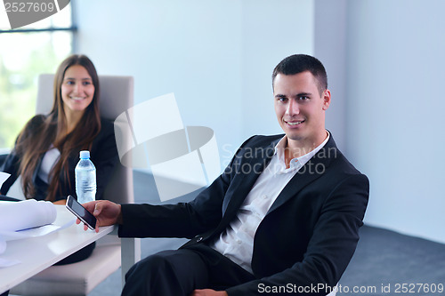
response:
M242 0L242 130L275 134L271 74L280 60L295 53L313 54L313 1Z

